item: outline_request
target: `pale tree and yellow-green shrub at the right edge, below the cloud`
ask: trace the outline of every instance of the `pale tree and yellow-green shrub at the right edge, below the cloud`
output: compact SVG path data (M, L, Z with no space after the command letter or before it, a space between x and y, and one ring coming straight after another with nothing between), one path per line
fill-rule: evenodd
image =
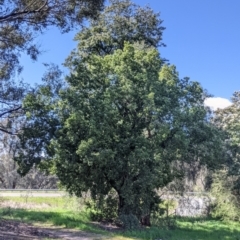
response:
M211 178L211 192L214 202L212 215L239 220L240 212L240 92L235 92L232 105L216 111L214 124L224 132L225 155L222 156L221 171Z

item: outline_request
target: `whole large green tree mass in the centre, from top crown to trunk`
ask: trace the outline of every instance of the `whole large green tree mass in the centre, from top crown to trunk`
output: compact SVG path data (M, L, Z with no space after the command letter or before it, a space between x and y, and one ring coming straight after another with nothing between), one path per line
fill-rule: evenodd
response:
M50 158L70 193L115 189L118 214L141 220L159 201L156 189L176 176L174 162L213 163L207 95L164 65L161 22L149 8L112 0L77 35L65 86L53 71L25 100L29 124L16 159L23 173Z

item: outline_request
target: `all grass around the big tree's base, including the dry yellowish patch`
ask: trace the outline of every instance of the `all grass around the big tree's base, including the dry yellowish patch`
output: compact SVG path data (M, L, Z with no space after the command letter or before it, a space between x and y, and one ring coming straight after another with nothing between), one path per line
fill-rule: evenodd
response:
M24 202L22 198L5 198L4 200ZM44 199L44 200L43 200ZM96 228L84 210L79 210L76 199L70 198L28 198L28 202L48 204L46 209L0 209L0 216L8 219L21 220L28 223L75 228L109 237L109 233ZM68 208L66 207L68 206ZM76 209L77 207L77 209ZM135 231L122 231L111 235L111 239L139 240L240 240L240 223L222 222L214 219L178 218L177 227L168 230L164 227L151 227Z

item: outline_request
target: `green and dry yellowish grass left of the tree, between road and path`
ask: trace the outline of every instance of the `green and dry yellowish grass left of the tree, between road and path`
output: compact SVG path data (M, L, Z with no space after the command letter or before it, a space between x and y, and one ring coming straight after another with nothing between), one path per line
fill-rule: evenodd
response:
M82 201L73 197L2 197L1 201L13 201L25 205L44 204L41 210L1 208L0 216L6 219L20 220L26 223L41 223L44 225L76 228L90 232L102 232L91 224L86 211L83 211Z

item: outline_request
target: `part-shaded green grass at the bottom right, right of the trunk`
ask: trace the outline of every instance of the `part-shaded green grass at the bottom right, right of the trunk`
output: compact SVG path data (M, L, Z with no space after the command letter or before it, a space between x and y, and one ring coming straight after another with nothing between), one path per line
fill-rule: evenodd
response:
M128 231L123 236L142 240L240 240L240 223L222 222L206 218L180 218L177 227L168 230L151 227L144 230Z

